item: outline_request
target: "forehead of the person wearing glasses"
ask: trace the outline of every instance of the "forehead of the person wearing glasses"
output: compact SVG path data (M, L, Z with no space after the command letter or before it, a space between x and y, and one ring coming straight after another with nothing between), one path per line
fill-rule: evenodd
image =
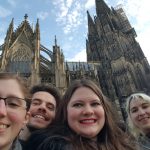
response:
M0 79L0 94L22 96L21 86L15 79Z

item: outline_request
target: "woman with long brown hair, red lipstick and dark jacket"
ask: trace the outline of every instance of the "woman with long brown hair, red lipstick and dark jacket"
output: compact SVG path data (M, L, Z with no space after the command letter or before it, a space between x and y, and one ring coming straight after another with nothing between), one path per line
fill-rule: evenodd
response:
M75 80L63 96L54 126L46 129L44 142L34 136L40 144L37 150L135 150L116 117L94 82Z

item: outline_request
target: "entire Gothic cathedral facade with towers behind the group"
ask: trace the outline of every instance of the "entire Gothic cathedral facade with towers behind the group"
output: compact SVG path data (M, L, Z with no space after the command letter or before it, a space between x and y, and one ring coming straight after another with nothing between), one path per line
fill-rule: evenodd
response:
M29 86L54 84L62 93L72 80L90 78L122 110L131 93L150 94L150 66L123 9L109 8L103 0L95 4L96 16L87 12L87 62L65 62L56 37L52 50L43 46L39 20L33 30L25 15L15 31L14 19L8 27L0 46L0 71L19 73Z

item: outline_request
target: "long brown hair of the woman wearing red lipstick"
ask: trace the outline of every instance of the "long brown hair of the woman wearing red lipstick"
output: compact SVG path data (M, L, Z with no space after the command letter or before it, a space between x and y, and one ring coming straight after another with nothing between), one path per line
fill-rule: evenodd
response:
M117 114L114 114L110 102L103 95L100 88L94 82L88 79L75 80L73 83L70 84L62 98L58 113L56 114L56 124L66 127L67 130L70 130L70 133L73 133L68 134L68 139L73 141L72 143L74 143L74 149L81 149L81 147L83 150L91 149L90 142L87 142L85 144L85 141L82 140L82 137L78 137L78 139L75 138L76 134L74 133L74 131L71 131L67 121L67 105L73 93L80 87L90 88L100 98L105 111L105 124L103 129L97 135L97 149L133 150L134 148L130 146L131 143L129 143L127 135L117 125ZM57 133L59 133L59 131ZM64 133L65 135L67 134L67 132Z

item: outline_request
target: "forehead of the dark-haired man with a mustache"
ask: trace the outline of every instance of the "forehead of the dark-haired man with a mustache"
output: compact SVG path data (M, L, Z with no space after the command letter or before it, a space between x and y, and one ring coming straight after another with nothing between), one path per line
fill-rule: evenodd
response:
M43 102L47 102L47 103L50 102L56 105L55 97L52 94L45 92L45 91L39 91L39 92L34 93L32 96L32 99L33 100L40 99Z

